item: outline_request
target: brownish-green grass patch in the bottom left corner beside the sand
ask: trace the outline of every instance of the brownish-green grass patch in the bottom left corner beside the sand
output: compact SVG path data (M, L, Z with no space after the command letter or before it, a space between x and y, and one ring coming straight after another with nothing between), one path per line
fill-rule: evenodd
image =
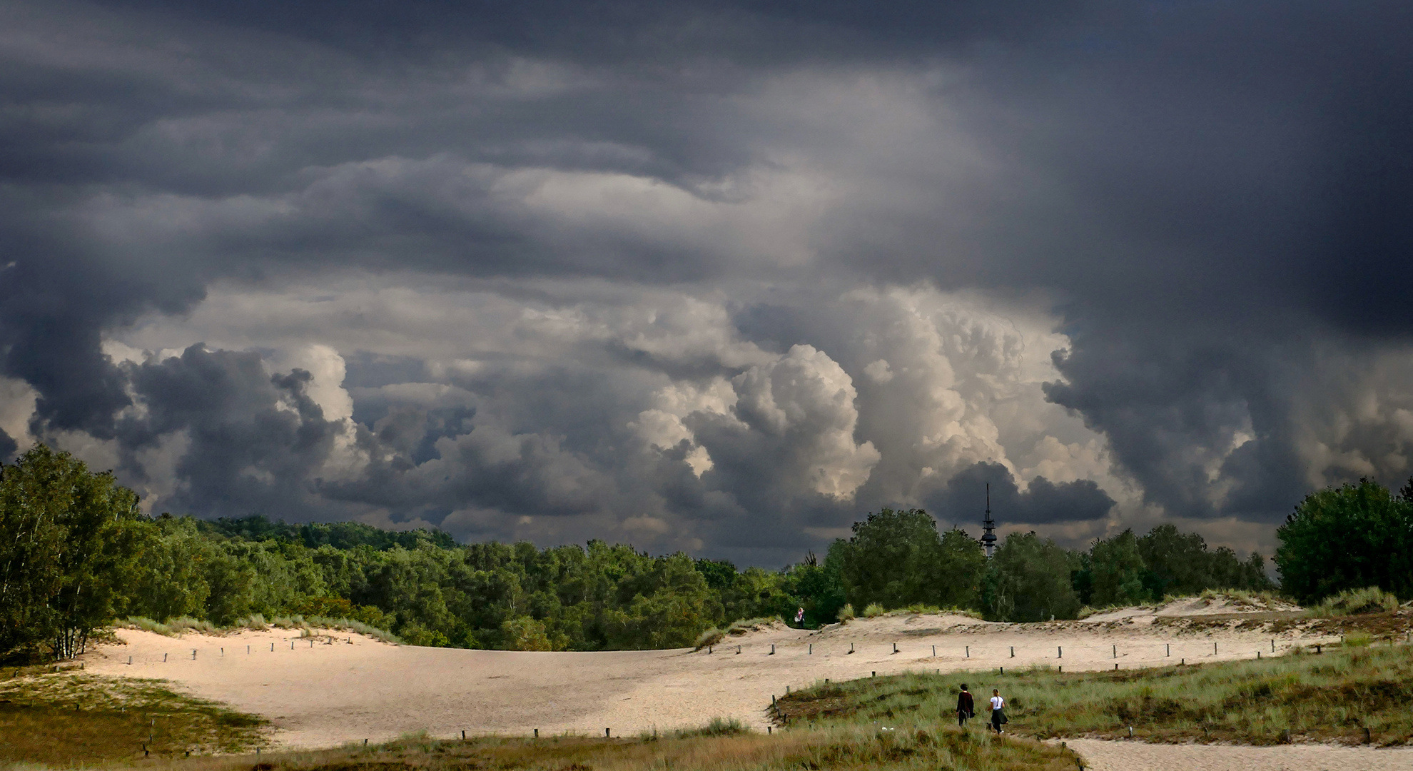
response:
M7 675L13 672L6 672ZM0 764L88 765L144 757L240 753L267 721L177 693L161 680L24 673L0 680Z

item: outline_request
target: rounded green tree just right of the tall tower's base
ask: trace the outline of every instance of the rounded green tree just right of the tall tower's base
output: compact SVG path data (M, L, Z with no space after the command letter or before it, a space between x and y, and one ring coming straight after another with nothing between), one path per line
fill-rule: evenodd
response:
M1070 580L1077 560L1034 531L1010 533L982 579L982 610L992 621L1074 618L1080 597Z

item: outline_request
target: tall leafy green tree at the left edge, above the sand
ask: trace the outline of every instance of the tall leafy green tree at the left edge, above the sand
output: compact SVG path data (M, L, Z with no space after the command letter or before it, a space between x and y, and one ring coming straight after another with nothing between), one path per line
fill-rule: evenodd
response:
M0 465L0 656L82 652L123 610L150 535L112 473L44 444Z

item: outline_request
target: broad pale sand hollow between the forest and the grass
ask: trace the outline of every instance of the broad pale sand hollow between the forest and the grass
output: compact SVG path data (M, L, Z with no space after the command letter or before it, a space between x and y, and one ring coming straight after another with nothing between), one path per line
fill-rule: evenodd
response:
M105 675L167 679L266 716L281 746L328 747L421 730L449 737L462 730L528 734L533 729L602 736L612 729L613 736L627 736L697 727L718 716L763 730L773 695L825 678L1030 665L1130 669L1270 655L1269 634L1234 628L1178 634L1136 615L1046 624L899 615L818 632L776 624L728 638L711 652L463 651L387 645L349 634L311 647L297 631L281 630L184 638L119 630L127 644L100 647L85 655L85 665ZM1330 641L1275 637L1279 652ZM974 692L989 688L983 673L968 679Z

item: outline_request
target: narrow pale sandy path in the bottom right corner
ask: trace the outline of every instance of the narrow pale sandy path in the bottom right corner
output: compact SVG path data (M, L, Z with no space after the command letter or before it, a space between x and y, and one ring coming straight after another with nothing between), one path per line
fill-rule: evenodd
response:
M1070 747L1092 771L1409 771L1413 748L1284 744L1145 744L1072 738Z

